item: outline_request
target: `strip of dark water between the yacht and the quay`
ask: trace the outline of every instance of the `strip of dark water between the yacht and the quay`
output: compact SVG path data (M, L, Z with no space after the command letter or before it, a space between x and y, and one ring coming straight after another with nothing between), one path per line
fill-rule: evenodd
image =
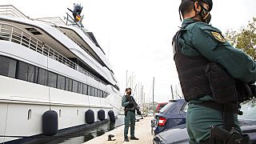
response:
M54 138L49 142L43 142L44 144L74 144L87 142L92 138L105 134L107 131L114 130L116 126L121 126L124 123L124 115L118 115L118 118L114 123L106 122L100 126L94 126L90 129L76 132L75 134L69 134L69 137ZM70 137L72 136L72 137ZM106 138L107 139L107 138Z

